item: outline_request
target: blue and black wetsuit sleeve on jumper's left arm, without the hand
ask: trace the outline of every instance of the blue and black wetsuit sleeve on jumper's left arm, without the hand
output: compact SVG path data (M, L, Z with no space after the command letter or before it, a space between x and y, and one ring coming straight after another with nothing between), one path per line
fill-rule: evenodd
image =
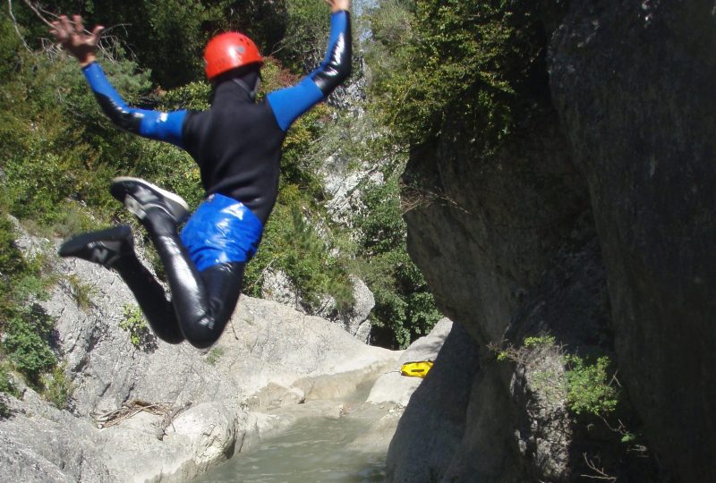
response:
M99 106L115 126L150 140L162 140L183 148L182 127L186 111L162 113L127 106L97 63L82 69Z

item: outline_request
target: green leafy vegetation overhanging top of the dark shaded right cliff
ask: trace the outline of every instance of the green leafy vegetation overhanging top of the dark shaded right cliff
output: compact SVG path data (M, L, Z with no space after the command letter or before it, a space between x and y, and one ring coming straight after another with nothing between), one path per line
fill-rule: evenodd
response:
M490 153L549 98L545 24L564 2L383 0L373 11L372 92L397 140L420 144L448 117Z

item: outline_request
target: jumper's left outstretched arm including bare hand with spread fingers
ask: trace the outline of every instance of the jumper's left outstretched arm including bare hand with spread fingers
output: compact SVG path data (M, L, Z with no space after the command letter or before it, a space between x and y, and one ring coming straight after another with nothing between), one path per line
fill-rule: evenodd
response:
M115 126L145 138L163 140L183 147L182 125L186 111L161 113L127 106L107 80L105 72L96 62L95 55L99 34L104 27L98 25L91 32L86 32L80 15L74 15L72 21L62 15L59 21L52 24L50 33L80 63L99 106Z

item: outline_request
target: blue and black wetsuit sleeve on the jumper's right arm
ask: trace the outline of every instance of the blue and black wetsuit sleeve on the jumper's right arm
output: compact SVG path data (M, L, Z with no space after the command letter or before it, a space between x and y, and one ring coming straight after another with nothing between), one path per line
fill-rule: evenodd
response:
M268 105L279 127L288 131L291 123L311 106L324 100L351 73L351 21L345 11L332 13L326 58L298 84L268 94Z

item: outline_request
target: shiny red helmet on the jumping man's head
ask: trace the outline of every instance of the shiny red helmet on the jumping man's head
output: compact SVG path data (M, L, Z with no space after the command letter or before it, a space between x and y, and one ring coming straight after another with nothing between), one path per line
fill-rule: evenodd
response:
M263 64L259 48L251 38L238 32L226 32L209 40L204 49L207 78L248 64Z

